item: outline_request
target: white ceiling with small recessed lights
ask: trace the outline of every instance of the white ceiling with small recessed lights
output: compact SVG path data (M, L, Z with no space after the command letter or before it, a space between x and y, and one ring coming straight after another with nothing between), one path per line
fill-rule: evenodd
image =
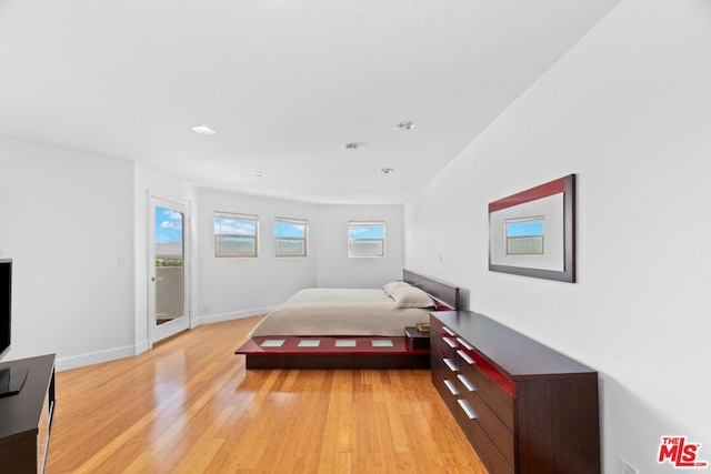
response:
M0 135L402 203L618 1L0 0Z

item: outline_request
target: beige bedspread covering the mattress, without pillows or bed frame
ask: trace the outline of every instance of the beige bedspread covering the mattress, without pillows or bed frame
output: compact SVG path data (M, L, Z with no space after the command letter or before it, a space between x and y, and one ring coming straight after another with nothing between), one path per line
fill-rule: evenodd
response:
M429 321L431 309L395 307L382 289L301 290L251 332L259 335L403 335Z

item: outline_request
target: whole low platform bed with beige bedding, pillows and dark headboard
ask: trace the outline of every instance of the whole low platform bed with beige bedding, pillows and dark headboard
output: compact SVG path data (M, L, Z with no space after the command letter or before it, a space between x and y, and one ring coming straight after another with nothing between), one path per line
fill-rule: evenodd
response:
M412 337L431 311L458 310L459 288L403 270L375 289L306 289L270 312L237 354L247 369L429 366ZM420 334L421 336L421 334Z

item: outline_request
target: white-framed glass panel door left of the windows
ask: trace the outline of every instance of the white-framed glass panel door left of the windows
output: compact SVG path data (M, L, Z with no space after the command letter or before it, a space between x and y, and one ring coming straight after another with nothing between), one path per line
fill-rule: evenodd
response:
M149 327L151 343L189 327L187 206L151 196Z

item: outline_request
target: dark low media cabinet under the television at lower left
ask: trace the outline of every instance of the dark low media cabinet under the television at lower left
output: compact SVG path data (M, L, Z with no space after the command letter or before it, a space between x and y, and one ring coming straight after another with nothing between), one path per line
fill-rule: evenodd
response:
M54 354L0 364L9 367L28 374L20 393L0 399L0 472L42 473L54 411Z

